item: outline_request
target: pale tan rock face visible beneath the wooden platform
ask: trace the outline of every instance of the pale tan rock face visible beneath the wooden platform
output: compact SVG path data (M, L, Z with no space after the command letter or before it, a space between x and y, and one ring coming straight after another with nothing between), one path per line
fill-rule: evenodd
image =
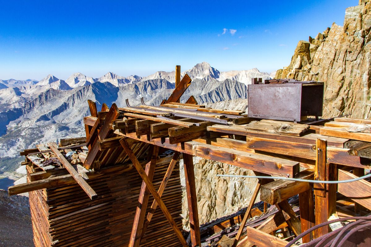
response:
M193 160L200 224L228 216L248 206L255 190L256 178L217 177L216 175L253 175L251 170L199 157L194 157ZM180 162L180 177L182 185L185 186L183 160ZM183 225L189 226L185 187L183 187L183 218Z

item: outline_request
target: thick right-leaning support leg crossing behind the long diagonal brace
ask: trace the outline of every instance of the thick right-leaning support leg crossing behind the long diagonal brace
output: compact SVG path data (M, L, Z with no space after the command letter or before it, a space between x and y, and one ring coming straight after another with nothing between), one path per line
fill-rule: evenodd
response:
M145 174L147 174L148 179L152 183L155 167L156 167L156 161L158 156L158 146L154 146L152 148L152 154L150 158L150 162L148 162L145 166ZM137 247L140 244L140 239L142 236L142 228L144 223L144 218L148 206L148 199L150 197L150 192L148 191L148 188L144 181L142 182L142 187L139 193L139 199L138 199L138 206L137 211L135 212L134 217L134 224L133 228L131 229L131 235L129 240L129 247Z

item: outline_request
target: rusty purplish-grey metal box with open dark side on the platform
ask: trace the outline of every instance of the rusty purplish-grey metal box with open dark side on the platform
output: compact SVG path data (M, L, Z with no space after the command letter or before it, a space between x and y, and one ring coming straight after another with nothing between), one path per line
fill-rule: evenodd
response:
M324 83L296 80L252 79L248 89L248 116L260 119L301 121L322 116Z

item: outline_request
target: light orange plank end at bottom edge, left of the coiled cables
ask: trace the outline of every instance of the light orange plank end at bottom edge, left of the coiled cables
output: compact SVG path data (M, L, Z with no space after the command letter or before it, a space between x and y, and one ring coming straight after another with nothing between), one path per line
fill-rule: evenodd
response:
M268 247L268 246L275 246L275 247L286 247L288 244L287 241L282 240L278 237L272 236L268 233L264 233L262 231L259 231L253 227L246 227L247 231L247 238L249 241L253 244L255 244L258 247ZM293 244L292 246L297 246Z

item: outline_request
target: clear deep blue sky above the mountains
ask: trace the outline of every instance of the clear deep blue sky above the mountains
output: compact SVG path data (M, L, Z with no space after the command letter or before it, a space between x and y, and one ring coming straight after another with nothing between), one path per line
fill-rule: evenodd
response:
M0 79L74 72L147 76L207 61L220 71L287 66L299 40L342 25L358 0L2 1ZM223 29L225 33L223 34Z

